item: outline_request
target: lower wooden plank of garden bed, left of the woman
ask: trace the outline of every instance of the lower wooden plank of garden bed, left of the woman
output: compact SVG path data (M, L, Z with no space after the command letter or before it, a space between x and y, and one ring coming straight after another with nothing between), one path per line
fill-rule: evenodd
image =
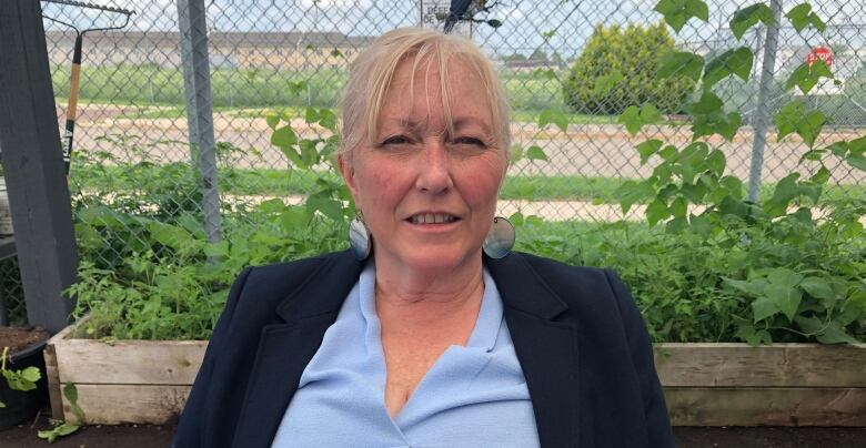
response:
M75 388L87 424L163 425L177 422L191 387L77 384ZM79 422L66 398L63 413L67 421Z

